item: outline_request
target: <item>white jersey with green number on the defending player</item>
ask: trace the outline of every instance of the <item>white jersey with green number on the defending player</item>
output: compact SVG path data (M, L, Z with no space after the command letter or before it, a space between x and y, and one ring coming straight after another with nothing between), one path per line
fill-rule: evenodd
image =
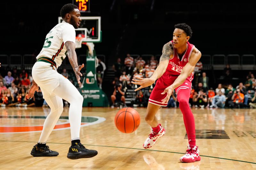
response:
M60 66L62 61L66 57L67 48L65 43L72 41L75 43L76 32L75 28L63 21L52 28L52 30L46 35L44 46L41 52L37 55L38 60L41 57L50 58L56 63L56 69Z

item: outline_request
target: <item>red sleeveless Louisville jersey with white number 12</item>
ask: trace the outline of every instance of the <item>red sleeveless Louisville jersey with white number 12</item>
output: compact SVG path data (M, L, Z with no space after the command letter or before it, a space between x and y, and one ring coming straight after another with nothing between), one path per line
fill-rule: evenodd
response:
M179 76L183 67L189 62L189 57L194 49L194 45L187 42L187 50L183 56L179 56L177 49L173 47L173 41L170 41L173 48L173 57L169 60L168 67L165 72L169 73L172 76ZM188 76L188 80L191 82L194 78L194 73L192 72Z

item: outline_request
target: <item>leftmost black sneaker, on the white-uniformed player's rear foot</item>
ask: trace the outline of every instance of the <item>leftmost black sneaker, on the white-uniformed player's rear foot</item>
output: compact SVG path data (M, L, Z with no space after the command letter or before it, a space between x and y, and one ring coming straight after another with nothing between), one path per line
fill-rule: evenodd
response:
M57 156L59 155L58 152L52 151L49 149L49 146L45 147L37 147L37 144L33 147L31 153L32 156L38 157L38 156Z

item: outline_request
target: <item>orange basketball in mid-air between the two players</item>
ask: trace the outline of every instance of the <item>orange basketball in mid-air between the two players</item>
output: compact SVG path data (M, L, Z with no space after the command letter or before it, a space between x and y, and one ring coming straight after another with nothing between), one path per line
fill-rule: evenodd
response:
M115 116L115 125L123 133L132 133L140 125L140 115L131 107L122 108Z

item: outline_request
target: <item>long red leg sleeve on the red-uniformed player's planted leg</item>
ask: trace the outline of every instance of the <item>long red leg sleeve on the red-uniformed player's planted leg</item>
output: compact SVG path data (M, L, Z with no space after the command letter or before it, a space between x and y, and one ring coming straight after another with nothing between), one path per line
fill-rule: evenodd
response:
M188 134L188 144L196 146L195 118L189 107L188 100L190 89L180 89L177 98L180 102L180 110L183 114L183 120Z

